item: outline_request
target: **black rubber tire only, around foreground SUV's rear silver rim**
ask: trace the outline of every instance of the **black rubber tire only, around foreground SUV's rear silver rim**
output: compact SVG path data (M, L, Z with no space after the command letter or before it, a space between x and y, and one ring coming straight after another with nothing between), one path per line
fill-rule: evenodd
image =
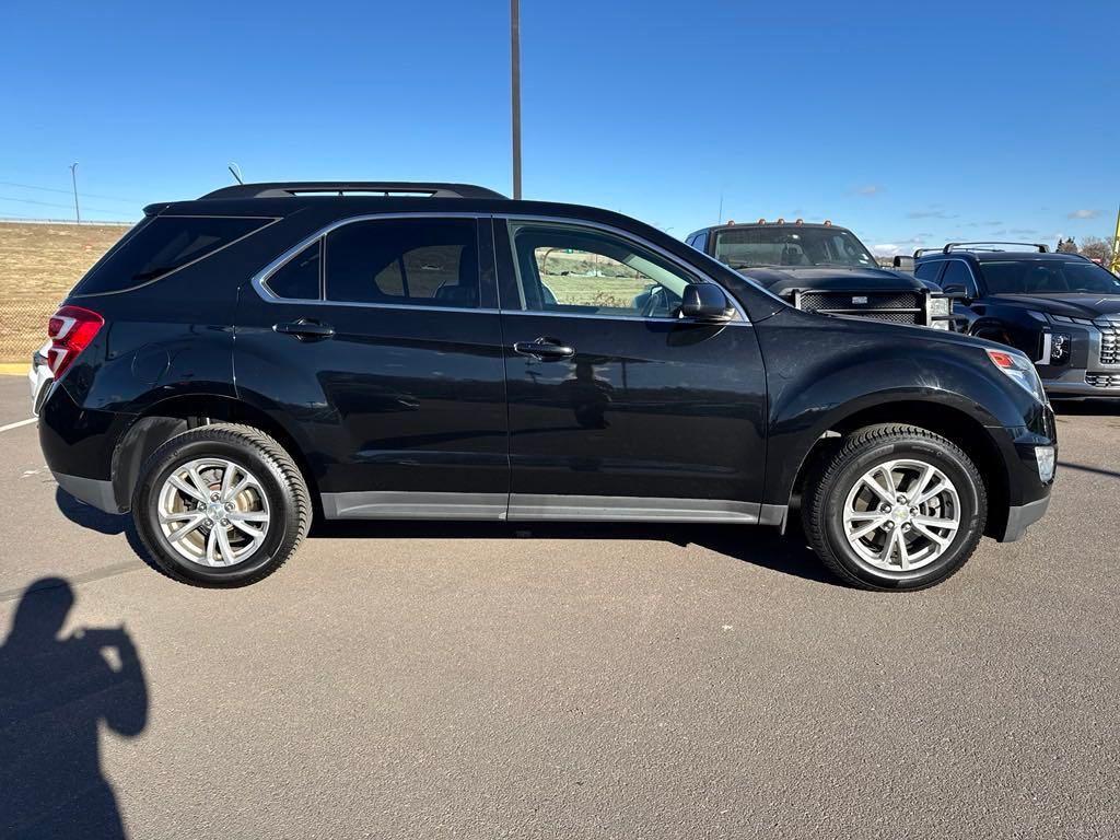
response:
M177 467L197 458L223 458L244 467L268 497L270 519L261 544L228 567L181 557L159 524L158 498L165 482ZM268 577L291 557L311 524L311 501L299 468L276 440L250 426L215 423L177 435L151 454L132 494L132 519L160 571L196 586L237 587Z

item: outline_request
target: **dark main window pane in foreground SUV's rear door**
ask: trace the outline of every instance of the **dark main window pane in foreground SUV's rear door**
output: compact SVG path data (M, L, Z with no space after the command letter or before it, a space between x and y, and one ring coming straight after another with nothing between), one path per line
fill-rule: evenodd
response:
M469 218L354 222L327 234L327 299L478 307L478 248Z

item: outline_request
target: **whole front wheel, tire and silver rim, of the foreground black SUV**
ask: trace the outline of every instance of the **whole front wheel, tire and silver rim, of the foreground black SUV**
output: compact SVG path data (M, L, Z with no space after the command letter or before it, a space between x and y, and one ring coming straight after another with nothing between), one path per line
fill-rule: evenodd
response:
M968 455L913 426L851 433L805 493L805 533L841 580L866 589L923 589L972 556L988 501Z

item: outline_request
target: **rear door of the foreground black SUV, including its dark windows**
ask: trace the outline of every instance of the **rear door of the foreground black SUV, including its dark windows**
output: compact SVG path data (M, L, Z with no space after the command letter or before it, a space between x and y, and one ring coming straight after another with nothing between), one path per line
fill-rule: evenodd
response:
M234 360L328 517L505 516L488 220L361 217L293 248L242 290Z

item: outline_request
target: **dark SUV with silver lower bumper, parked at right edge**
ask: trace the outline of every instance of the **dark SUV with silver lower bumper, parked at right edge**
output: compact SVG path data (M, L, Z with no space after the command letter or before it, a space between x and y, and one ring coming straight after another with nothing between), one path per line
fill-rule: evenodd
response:
M956 298L955 328L1017 347L1052 396L1120 398L1120 279L1046 245L951 242L914 254L918 278Z

